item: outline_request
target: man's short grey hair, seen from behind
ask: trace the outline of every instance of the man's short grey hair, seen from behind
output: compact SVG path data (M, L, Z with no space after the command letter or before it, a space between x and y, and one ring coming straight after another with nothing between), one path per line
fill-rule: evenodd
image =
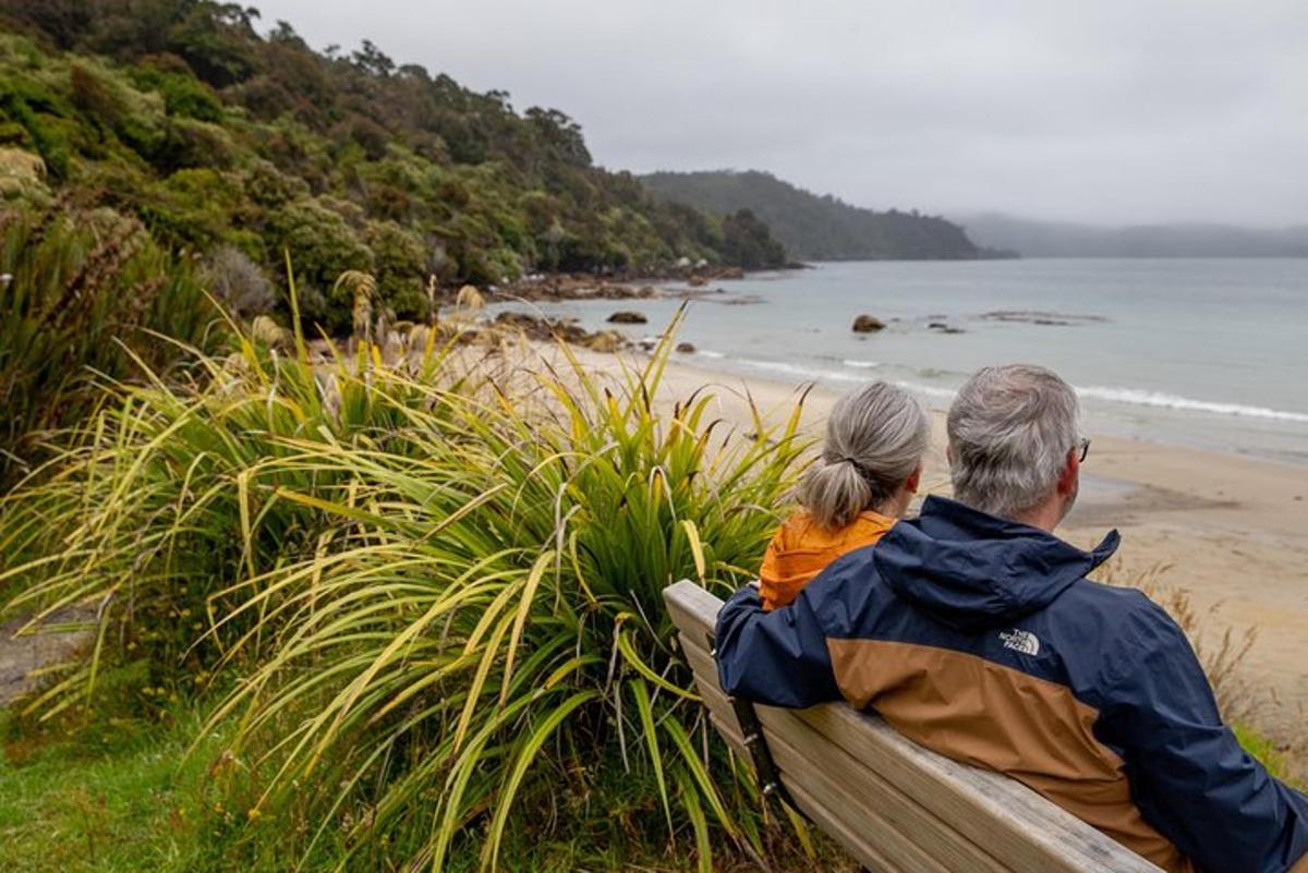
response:
M1076 392L1052 370L985 367L950 406L954 497L1012 519L1053 491L1079 439Z

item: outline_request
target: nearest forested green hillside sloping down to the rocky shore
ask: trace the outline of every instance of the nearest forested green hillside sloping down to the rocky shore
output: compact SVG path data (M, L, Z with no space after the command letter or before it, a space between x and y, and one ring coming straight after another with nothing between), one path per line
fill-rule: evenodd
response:
M368 41L319 54L258 25L209 0L0 0L7 212L135 217L254 306L289 250L305 312L332 331L345 269L417 318L464 281L782 257L749 216L662 204L594 166L557 110L519 112Z

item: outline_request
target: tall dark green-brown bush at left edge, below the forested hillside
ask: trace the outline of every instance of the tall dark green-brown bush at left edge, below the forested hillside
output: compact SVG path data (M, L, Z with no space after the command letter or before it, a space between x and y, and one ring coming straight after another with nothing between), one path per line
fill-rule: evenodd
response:
M44 431L99 403L92 378L140 358L166 365L161 331L199 341L212 311L184 260L107 209L0 216L0 482L38 456Z

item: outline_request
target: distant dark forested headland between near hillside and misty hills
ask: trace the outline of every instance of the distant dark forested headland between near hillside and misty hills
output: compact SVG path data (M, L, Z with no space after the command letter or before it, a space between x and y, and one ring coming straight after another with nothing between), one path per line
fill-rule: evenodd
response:
M670 204L726 214L749 209L793 257L804 260L968 260L978 248L957 225L917 212L874 212L818 196L768 173L654 173L641 182Z

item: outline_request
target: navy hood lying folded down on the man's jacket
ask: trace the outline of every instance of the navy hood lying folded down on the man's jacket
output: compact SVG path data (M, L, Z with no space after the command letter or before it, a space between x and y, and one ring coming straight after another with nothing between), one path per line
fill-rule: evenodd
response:
M944 625L977 633L1048 606L1120 541L1112 531L1082 552L1040 528L929 497L917 519L882 538L872 563L901 599Z

